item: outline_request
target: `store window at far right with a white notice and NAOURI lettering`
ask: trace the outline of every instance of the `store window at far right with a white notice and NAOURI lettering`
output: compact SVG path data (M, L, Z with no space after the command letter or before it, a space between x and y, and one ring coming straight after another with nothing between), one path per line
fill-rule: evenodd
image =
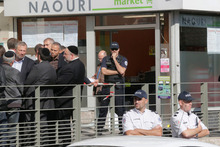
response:
M202 15L180 15L180 70L181 89L200 92L200 84L208 83L209 101L220 97L218 79L220 75L219 33L220 17ZM194 83L194 84L192 84ZM218 92L211 94L211 92ZM200 94L193 95L199 98ZM218 104L209 104L217 106Z

